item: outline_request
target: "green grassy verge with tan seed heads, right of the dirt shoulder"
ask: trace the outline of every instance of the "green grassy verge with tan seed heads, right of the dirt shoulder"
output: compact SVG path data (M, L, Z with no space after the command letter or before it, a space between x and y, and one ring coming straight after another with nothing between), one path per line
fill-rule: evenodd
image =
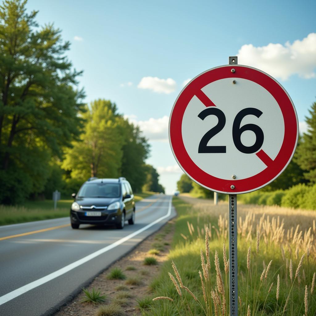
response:
M173 204L178 217L174 225L170 260L161 266L160 276L150 284L153 295L165 298L155 301L150 311L143 311L143 315L228 316L228 220L225 217L228 215L228 205L223 205L222 212L219 206L204 204L192 207L179 198L174 198ZM240 219L236 221L238 295L241 300L239 315L314 315L315 216L307 220L308 216L304 213L298 214L295 211L294 215L291 210L283 212L280 208L274 208L273 212L270 208L270 216L262 217L266 208L251 211L248 206L242 205L239 208ZM258 215L253 216L254 213ZM300 226L296 229L298 223ZM206 233L207 239L204 239ZM226 248L224 250L223 245ZM301 268L298 269L304 253ZM172 260L175 264L173 266ZM290 277L291 265L293 272Z

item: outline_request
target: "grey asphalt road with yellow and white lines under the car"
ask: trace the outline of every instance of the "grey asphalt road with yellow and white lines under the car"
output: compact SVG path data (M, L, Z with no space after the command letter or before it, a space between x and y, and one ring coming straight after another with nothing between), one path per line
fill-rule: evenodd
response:
M0 226L0 315L52 315L111 263L176 215L171 196L136 203L136 223L70 227L69 218Z

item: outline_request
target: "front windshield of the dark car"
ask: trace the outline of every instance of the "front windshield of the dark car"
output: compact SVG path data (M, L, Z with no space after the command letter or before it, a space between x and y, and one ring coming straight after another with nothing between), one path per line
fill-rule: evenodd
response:
M119 197L118 183L85 183L78 197Z

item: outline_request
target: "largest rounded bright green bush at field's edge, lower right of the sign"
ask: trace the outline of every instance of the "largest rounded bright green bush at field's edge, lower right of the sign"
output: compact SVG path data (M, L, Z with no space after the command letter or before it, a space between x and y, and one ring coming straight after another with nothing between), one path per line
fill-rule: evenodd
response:
M306 208L306 195L310 188L305 184L294 185L286 190L281 200L281 206L292 207L294 209Z

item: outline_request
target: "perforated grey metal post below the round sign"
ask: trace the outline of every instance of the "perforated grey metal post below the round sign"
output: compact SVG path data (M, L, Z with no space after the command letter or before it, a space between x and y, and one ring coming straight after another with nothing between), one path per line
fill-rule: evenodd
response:
M237 195L229 194L229 307L230 316L238 316L237 276Z

